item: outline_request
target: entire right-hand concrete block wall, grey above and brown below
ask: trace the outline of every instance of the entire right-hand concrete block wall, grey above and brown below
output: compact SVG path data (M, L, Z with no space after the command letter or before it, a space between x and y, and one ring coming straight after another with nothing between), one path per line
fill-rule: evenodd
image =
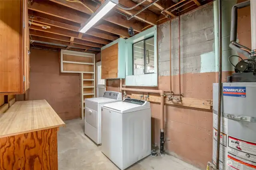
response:
M233 72L227 57L237 54L228 47L230 40L231 8L242 1L223 0L222 14L222 71L223 79ZM215 60L214 7L203 6L180 18L181 93L184 97L212 99L212 83L218 82L218 63ZM218 33L218 31L217 31ZM244 37L244 35L246 37ZM170 22L158 26L158 87L179 93L178 86L178 19L171 22L171 76L170 76ZM238 39L250 48L250 8L238 11ZM217 37L218 40L218 37ZM236 63L238 60L234 60ZM118 80L108 80L107 90L118 91ZM123 82L123 84L125 84ZM129 87L134 88L134 87ZM160 146L160 105L151 103L152 145ZM165 151L198 168L206 169L212 160L212 111L165 106Z

